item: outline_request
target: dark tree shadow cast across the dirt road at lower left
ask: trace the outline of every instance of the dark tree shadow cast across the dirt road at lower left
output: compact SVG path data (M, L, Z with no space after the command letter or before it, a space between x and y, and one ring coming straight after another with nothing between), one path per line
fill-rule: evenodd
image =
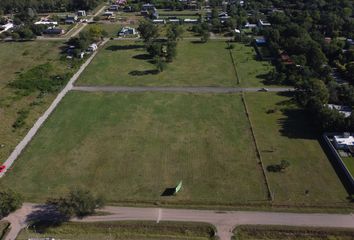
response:
M44 233L47 228L58 227L68 220L69 218L61 214L55 206L43 204L35 207L35 211L27 216L26 222L29 228Z

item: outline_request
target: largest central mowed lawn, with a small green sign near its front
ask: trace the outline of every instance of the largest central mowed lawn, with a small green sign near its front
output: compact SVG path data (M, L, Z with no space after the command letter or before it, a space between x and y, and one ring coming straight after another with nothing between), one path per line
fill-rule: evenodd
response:
M161 197L180 180L176 197ZM0 181L27 201L83 186L108 202L266 199L239 95L69 93Z

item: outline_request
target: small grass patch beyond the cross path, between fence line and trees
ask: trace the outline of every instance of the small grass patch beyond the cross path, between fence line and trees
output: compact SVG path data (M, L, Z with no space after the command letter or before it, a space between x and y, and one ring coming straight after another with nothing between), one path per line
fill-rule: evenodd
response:
M263 87L263 76L274 67L270 62L256 60L256 51L251 46L240 43L233 43L235 48L232 50L236 62L237 73L240 84L243 87Z

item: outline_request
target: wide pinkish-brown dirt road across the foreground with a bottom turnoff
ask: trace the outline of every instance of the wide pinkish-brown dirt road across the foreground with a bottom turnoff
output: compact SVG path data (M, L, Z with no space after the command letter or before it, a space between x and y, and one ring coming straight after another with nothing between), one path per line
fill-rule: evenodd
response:
M217 228L221 240L230 240L232 230L239 225L283 225L299 227L334 227L353 228L353 214L311 214L311 213L278 213L278 212L251 212L251 211L213 211L190 209L163 209L163 208L130 208L106 207L102 209L111 215L92 216L84 219L72 219L78 222L100 221L188 221L205 222ZM25 203L23 207L5 218L11 222L11 231L5 240L14 240L22 228L27 226L31 215L41 211L41 206Z

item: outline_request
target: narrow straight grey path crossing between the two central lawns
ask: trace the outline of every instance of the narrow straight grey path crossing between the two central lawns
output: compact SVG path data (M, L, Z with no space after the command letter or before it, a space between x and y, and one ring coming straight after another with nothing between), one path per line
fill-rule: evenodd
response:
M125 87L125 86L74 86L74 91L83 92L174 92L174 93L237 93L261 92L262 88L236 87ZM267 88L268 92L288 92L294 88Z

